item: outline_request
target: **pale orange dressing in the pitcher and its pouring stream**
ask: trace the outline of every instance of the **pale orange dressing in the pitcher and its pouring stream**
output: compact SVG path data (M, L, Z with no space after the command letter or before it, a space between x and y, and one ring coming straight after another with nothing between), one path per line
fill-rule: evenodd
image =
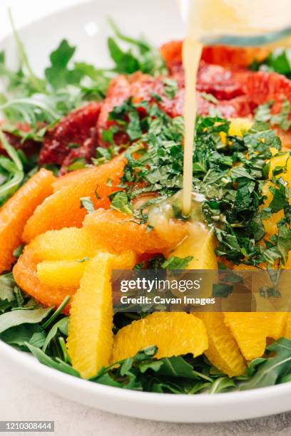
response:
M180 7L182 2L180 0ZM183 43L185 70L183 216L191 210L195 118L197 113L196 82L203 36L221 34L256 35L290 24L291 0L185 0L188 8L187 36ZM185 2L184 2L185 5Z

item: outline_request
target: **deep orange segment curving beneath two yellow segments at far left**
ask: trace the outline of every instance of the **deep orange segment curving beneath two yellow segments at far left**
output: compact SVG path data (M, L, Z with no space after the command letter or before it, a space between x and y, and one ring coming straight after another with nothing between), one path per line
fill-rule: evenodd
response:
M41 259L34 253L32 244L25 247L24 253L14 266L13 275L16 283L26 294L34 297L44 306L59 306L66 296L72 296L76 288L47 286L41 284L36 275L36 266ZM68 306L65 313L68 313Z

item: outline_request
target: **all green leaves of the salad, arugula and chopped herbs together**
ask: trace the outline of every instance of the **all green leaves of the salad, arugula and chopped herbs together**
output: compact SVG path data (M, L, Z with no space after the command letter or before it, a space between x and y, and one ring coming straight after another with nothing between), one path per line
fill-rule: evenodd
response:
M21 60L16 71L6 65L4 52L0 53L0 77L6 81L6 93L0 95L0 110L5 123L0 128L0 141L7 156L0 156L0 205L13 194L26 177L36 170L34 157L26 158L21 150L9 144L6 135L13 133L19 140L41 142L46 130L71 110L90 100L102 100L108 83L118 73L141 71L152 76L165 73L165 64L158 51L146 40L130 38L111 21L113 36L108 38L112 68L96 68L91 64L75 61L76 47L65 39L52 51L44 77L37 77L26 56L24 46L14 29L14 37ZM126 48L124 48L126 47ZM290 51L271 53L253 69L277 71L291 77ZM170 78L163 81L163 94L174 98L178 83ZM213 95L203 93L203 98L217 103ZM156 103L160 95L153 94ZM275 167L269 187L270 204L265 204L265 187L270 167L265 163L272 150L280 152L280 139L270 125L282 130L290 128L290 103L285 102L279 114L272 115L272 102L256 111L257 123L242 137L228 135L230 122L218 116L198 117L195 154L193 155L193 191L202 195L203 213L208 224L215 229L218 239L217 254L234 264L257 266L284 265L291 249L290 190L282 175L286 165ZM143 116L138 108L143 107ZM103 131L108 148L97 149L93 160L101 165L116 154L114 135L126 133L132 142L125 152L127 164L118 192L111 194L111 208L133 214L140 223L148 222L147 207L175 196L182 187L183 176L183 118L170 118L158 104L133 103L130 98L111 111L112 125ZM29 132L19 128L19 122L31 127ZM266 124L268 123L268 124ZM69 147L76 147L71 144ZM76 169L78 167L72 168ZM112 181L108 180L108 185ZM140 194L159 194L149 199L139 209L133 209L133 200ZM81 207L93 212L90 197L81 197ZM161 204L161 203L160 203ZM179 202L173 202L173 216L186 219L181 214ZM263 220L273 213L283 212L277 223L278 233L265 239ZM148 224L148 231L152 227ZM16 249L16 256L21 246ZM85 261L86 258L79 261ZM165 260L155 256L148 260L148 269L184 269L192 260L172 256ZM141 262L136 269L143 268ZM68 316L62 314L68 303L42 308L16 285L11 273L0 276L0 339L21 351L29 351L45 365L63 373L80 377L72 368L66 350ZM114 331L131 323L146 313L116 313ZM116 365L101 368L91 378L93 383L103 383L118 388L144 390L155 393L221 393L276 385L291 380L291 341L280 338L266 348L263 358L252 360L244 375L235 378L220 373L205 356L193 358L183 355L156 359L155 344L139 351L133 358L121 360Z

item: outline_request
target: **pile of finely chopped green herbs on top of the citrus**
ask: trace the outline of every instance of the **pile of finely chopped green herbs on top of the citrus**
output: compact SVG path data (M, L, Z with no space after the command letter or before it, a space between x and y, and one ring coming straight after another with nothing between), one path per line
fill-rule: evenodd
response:
M136 137L125 153L128 162L120 187L126 193L113 194L116 200L122 196L122 202L116 201L115 208L132 213L131 201L138 195L159 194L133 212L142 223L148 220L147 208L151 204L163 207L165 198L182 187L183 118L170 118L158 105L138 103L141 104L147 114L143 118L131 99L114 108L110 118L118 130L128 133L130 129L131 136L135 133ZM128 113L131 117L127 118ZM228 135L229 126L228 120L219 117L198 117L196 123L193 192L205 197L203 214L215 229L219 242L216 253L234 264L284 265L291 249L291 193L280 175L287 163L273 171L269 187L272 198L267 207L263 191L269 180L265 162L272 157L272 150L280 152L280 138L261 121L242 137ZM174 217L185 219L178 200L172 198L171 206ZM265 239L263 220L281 210L284 218L277 223L278 234Z

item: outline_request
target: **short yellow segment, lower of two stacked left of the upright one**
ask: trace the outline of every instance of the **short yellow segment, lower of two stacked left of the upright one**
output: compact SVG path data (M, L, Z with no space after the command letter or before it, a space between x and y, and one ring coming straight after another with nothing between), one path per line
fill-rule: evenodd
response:
M77 288L88 261L43 261L36 267L36 275L46 286Z

